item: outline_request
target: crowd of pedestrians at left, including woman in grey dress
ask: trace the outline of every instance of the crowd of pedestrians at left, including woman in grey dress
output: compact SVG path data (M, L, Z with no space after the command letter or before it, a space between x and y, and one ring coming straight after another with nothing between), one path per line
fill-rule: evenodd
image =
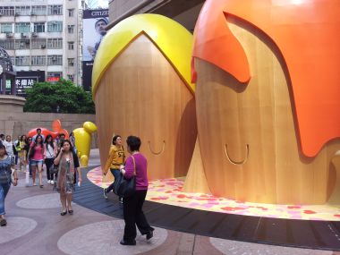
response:
M18 171L26 173L26 186L44 188L43 171L47 171L47 183L54 185L60 193L62 204L61 215L73 214L72 192L76 183L81 183L81 170L76 154L75 138L73 133L70 140L65 139L64 133L59 133L54 140L52 135L47 137L36 130L32 137L25 134L12 140L10 135L0 134L0 226L7 225L4 218L4 199L13 183L18 183ZM45 165L45 167L44 167Z

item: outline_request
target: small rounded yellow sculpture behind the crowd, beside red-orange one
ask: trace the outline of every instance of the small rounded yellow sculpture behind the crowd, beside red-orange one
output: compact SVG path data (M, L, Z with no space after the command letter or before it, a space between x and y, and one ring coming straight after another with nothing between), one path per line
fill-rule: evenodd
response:
M89 164L89 149L91 148L91 134L97 132L95 123L85 122L82 128L73 130L75 137L75 147L77 148L78 157L80 158L81 166Z

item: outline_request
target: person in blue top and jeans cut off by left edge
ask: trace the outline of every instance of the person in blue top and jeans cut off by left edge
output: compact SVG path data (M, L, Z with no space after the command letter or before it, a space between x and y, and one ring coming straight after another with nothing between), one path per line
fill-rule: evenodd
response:
M0 141L0 226L7 225L7 221L4 217L4 199L6 198L12 183L11 166L13 166L13 163L11 157L9 157L6 152L4 144ZM18 175L15 170L13 173L13 185L18 185Z

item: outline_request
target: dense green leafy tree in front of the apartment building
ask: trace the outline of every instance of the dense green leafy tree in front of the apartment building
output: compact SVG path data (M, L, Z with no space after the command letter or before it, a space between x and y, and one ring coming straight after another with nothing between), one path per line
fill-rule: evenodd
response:
M23 110L35 113L94 114L90 92L61 79L55 83L38 82L26 90Z

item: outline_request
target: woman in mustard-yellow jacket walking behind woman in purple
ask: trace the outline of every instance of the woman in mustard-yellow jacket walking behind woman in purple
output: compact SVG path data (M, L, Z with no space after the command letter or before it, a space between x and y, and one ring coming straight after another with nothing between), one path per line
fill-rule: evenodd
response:
M123 166L125 161L125 152L123 149L123 141L120 135L115 135L112 139L112 146L108 153L106 160L106 166L104 167L104 174L107 174L110 169L111 174L115 176L115 180L119 177L120 168ZM114 189L115 182L111 183L106 189L104 189L104 198L107 199L108 192ZM123 203L123 198L119 198L119 202Z

